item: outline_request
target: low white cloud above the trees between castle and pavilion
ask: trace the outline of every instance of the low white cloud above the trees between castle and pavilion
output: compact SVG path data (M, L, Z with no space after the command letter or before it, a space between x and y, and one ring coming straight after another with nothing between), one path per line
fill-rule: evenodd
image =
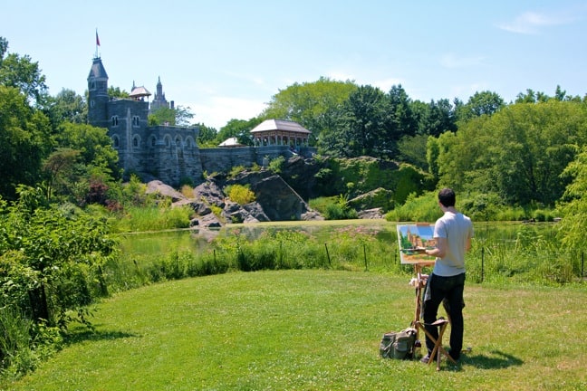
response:
M211 97L206 102L192 102L188 106L196 114L193 121L219 130L230 119L252 119L265 109L265 102L241 98Z

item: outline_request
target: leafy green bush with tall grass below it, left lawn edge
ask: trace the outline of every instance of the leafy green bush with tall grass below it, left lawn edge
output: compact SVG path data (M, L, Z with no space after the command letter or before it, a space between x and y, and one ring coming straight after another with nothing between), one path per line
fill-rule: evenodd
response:
M20 186L0 202L0 359L18 377L59 348L58 330L91 327L88 305L108 293L101 266L116 256L106 221L47 207L41 189Z

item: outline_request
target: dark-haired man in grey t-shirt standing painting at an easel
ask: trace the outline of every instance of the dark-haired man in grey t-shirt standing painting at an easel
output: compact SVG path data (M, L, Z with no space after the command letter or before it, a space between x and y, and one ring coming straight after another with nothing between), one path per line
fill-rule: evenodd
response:
M465 253L471 248L473 224L471 219L455 209L455 192L443 188L438 192L438 205L444 212L434 225L436 248L426 250L428 255L436 256L436 263L424 293L424 327L434 339L438 339L438 329L431 324L437 320L438 306L447 302L450 317L450 351L455 361L460 358L463 348L463 290L465 288ZM428 362L434 342L426 337L428 355L422 362ZM435 359L435 358L432 358Z

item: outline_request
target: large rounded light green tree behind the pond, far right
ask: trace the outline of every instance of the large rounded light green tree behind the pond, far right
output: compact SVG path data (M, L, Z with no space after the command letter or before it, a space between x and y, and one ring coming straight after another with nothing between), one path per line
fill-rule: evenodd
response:
M438 138L440 186L496 193L508 205L553 206L568 179L561 176L585 144L587 106L572 101L509 105L461 124Z

